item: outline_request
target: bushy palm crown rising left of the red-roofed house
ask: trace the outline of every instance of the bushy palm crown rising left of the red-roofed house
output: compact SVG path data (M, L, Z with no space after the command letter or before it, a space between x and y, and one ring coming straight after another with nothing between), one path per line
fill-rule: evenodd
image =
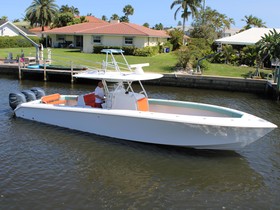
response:
M30 25L40 25L42 31L45 30L45 26L52 23L57 11L58 6L55 4L55 0L33 0L25 10Z

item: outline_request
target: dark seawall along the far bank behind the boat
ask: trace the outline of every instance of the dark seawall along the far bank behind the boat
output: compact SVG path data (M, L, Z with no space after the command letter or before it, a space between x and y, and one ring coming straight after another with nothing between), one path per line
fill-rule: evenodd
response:
M39 72L23 72L22 74L38 74ZM0 74L15 75L19 78L19 71L17 65L0 65ZM58 77L63 73L58 72L50 73ZM43 77L42 77L43 78ZM51 77L50 77L51 78ZM70 82L70 73L64 73L63 77L58 77L61 82ZM83 80L76 82L82 83ZM217 77L217 76L204 76L204 75L186 75L186 74L164 74L161 79L145 81L144 84L161 85L161 86L176 86L187 88L200 88L200 89L213 89L213 90L228 90L270 94L273 93L273 86L268 84L266 80L260 79L244 79L244 78L231 78L231 77Z

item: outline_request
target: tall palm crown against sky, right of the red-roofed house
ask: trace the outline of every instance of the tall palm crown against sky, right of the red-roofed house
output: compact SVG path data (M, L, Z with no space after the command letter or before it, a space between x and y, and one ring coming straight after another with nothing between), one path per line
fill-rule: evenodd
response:
M179 5L179 7L176 9L174 13L174 19L176 20L177 14L183 10L181 18L183 18L183 31L185 31L185 23L186 20L188 20L188 17L192 15L192 17L196 17L198 14L198 7L201 6L202 0L175 0L171 6L170 9L173 9L174 6Z

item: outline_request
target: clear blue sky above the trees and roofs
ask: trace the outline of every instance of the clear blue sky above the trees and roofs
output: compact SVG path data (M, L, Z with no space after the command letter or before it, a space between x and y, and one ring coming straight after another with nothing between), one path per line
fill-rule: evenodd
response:
M242 28L245 15L253 15L266 23L268 28L280 28L279 8L280 0L205 0L206 6L233 18L235 25L232 28ZM174 19L177 7L170 9L173 0L56 0L61 5L74 6L79 9L80 15L91 13L97 18L105 15L110 18L112 14L123 16L123 8L130 4L134 8L134 14L129 16L131 23L143 25L149 23L150 27L162 23L164 27L175 27L181 18ZM25 9L30 6L32 0L8 0L1 4L0 17L7 16L10 21L22 19ZM191 18L186 25L191 24Z

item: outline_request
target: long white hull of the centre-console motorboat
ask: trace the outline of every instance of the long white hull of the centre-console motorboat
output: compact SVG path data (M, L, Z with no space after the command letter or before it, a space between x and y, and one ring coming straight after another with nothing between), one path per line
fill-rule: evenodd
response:
M28 120L112 138L197 149L237 150L276 127L267 121L263 126L250 125L246 116L232 123L233 119L225 118L54 106L36 102L19 105L15 114ZM242 120L246 126L238 126Z

